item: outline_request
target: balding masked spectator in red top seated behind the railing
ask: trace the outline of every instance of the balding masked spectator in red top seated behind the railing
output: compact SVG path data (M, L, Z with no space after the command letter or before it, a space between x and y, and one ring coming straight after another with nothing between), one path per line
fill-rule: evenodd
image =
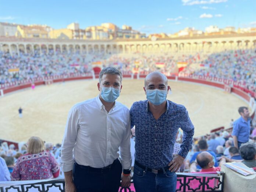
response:
M193 161L190 167L190 172L196 172L196 163L202 167L200 172L212 172L212 171L220 171L220 167L214 167L214 157L209 152L202 152L196 156L196 161ZM223 164L223 161L220 163Z

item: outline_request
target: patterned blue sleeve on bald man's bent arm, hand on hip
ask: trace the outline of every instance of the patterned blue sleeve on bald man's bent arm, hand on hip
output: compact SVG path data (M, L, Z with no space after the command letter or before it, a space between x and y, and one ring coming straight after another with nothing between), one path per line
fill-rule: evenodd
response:
M188 110L184 107L184 111L181 114L181 122L180 122L180 128L183 131L183 137L182 137L182 144L181 144L181 150L179 150L179 155L186 158L189 149L192 147L192 139L194 135L194 125L192 124L189 115Z

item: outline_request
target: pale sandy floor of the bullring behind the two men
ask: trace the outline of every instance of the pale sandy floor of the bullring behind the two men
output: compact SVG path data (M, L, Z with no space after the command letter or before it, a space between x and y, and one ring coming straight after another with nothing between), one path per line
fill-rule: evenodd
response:
M137 100L146 99L143 79L124 79L118 101L131 107ZM231 118L238 118L239 106L248 106L238 97L223 90L192 83L169 81L172 93L167 99L183 104L195 125L195 136L211 129L228 126ZM37 86L0 97L0 138L27 141L39 136L44 141L60 143L63 138L68 111L78 102L97 96L97 81L72 81ZM18 108L23 117L19 118Z

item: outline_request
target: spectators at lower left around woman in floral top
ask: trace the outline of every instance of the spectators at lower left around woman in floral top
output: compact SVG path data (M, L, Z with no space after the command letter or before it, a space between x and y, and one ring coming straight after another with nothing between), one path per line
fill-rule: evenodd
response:
M31 137L20 149L2 142L0 147L0 181L63 178L59 159L61 145L55 147L39 137Z

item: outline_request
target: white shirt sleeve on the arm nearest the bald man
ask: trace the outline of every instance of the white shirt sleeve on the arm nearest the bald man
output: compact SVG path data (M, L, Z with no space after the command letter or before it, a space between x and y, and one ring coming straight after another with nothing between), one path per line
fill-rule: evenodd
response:
M123 135L122 142L120 144L120 161L123 169L130 169L132 164L132 156L131 156L131 121L130 114L127 113L127 126L125 128L125 133Z

